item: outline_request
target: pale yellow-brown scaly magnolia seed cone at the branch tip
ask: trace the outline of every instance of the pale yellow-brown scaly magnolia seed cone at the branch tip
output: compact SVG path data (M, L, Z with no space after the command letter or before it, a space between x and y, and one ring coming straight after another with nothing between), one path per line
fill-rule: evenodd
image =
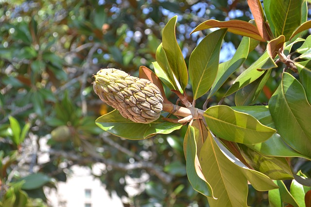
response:
M163 97L150 80L130 76L115 68L94 75L95 93L121 115L137 123L150 123L160 117Z

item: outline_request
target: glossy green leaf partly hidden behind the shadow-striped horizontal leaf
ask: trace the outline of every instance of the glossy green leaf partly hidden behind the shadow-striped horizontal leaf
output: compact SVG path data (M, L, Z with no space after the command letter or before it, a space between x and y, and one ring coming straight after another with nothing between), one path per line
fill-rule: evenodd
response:
M261 124L275 128L275 124L272 120L268 106L242 106L232 107L232 109L248 113L258 119ZM272 137L262 143L246 145L262 155L276 157L302 157L311 159L290 147L287 143L284 142L278 133L274 133Z

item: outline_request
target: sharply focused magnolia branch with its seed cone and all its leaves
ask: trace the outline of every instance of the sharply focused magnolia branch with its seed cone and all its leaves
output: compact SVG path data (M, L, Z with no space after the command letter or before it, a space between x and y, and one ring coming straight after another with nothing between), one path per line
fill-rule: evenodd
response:
M154 72L141 66L137 78L118 69L101 69L94 91L116 110L96 124L130 140L188 125L187 175L211 207L247 207L249 184L269 191L272 207L311 206L310 179L289 164L294 157L311 159L311 38L300 38L311 28L307 1L264 0L264 9L259 0L248 4L254 16L250 22L210 19L192 31L220 28L192 51L188 66L176 41L174 16L163 30ZM227 32L243 38L234 56L219 64ZM259 44L266 44L266 50L234 77ZM266 93L267 103L258 104L272 75L279 78L278 87L270 96ZM219 93L231 79L225 93ZM176 94L176 103L166 98L166 88ZM222 105L233 94L236 106ZM219 104L209 106L215 95L221 96ZM206 101L199 109L196 101L202 97ZM292 180L290 186L283 180Z

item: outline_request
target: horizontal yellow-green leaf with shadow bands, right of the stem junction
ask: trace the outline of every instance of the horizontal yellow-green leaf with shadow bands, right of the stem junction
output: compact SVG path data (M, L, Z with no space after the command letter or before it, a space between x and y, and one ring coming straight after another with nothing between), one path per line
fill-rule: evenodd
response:
M204 118L217 136L236 143L256 144L269 139L276 130L262 125L253 116L218 105L207 109Z

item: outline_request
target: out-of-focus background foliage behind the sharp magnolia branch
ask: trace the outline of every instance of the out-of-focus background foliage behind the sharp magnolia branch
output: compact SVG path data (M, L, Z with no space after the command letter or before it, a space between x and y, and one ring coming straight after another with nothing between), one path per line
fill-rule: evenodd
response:
M117 192L124 206L208 206L187 179L182 140L186 128L129 141L95 125L95 119L112 108L93 92L92 74L104 67L133 76L138 76L140 65L152 69L162 29L174 15L186 63L210 32L190 35L197 25L207 19L252 18L246 0L0 0L1 206L47 206L43 187L66 181L73 165L92 169L97 162L105 167L94 176L108 191ZM241 39L226 34L222 62L232 57ZM251 52L245 64L256 60L264 47ZM268 81L259 102L271 96L277 78L275 74ZM177 99L168 96L172 102ZM197 101L198 107L205 98ZM232 105L233 98L226 98L225 104ZM50 149L42 147L45 142ZM48 161L40 161L47 152ZM299 159L295 163L310 173L310 165ZM136 181L130 186L136 189L135 198L127 188L128 177ZM250 187L248 205L267 206L267 192Z

